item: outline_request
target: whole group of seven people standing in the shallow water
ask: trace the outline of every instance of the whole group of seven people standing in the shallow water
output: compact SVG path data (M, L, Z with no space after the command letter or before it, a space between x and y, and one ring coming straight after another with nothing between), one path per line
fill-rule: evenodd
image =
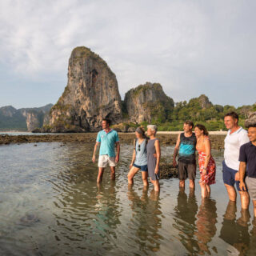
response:
M247 133L247 130L238 126L238 114L234 112L225 115L224 123L228 133L224 141L223 182L230 201L236 201L237 194L234 188L234 184L236 184L243 209L249 207L250 198L252 198L254 216L256 217L256 124L251 124ZM110 166L111 178L114 180L115 166L119 161L120 154L118 133L110 129L110 120L104 119L102 128L103 130L98 133L92 158L95 162L97 148L100 145L98 183L102 182L104 169L108 165ZM211 155L208 131L202 124L194 126L191 121L184 122L183 130L184 132L178 135L173 156L173 166L178 166L179 186L184 187L185 180L189 178L190 188L194 189L197 166L196 151L198 151L199 184L202 198L209 197L210 185L215 183L216 164ZM136 129L134 150L127 175L128 183L132 185L134 175L141 170L143 185L148 186L149 177L156 192L160 190L159 163L161 158L160 142L156 138L157 131L158 127L155 125L147 126L147 133L142 127ZM117 154L115 154L115 146ZM178 164L176 162L177 156Z

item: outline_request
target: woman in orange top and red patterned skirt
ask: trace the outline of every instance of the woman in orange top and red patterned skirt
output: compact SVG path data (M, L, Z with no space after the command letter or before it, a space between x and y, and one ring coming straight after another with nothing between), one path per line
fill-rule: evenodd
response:
M210 139L208 131L203 125L194 126L194 133L197 137L198 164L200 170L200 186L202 198L210 196L210 185L215 183L216 165L210 153Z

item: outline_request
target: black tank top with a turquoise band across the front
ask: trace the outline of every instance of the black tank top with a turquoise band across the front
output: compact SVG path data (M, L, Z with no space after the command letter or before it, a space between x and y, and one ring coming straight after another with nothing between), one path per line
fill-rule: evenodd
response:
M184 163L195 163L195 146L197 138L192 133L190 137L185 137L184 133L181 134L181 143L178 150L178 161Z

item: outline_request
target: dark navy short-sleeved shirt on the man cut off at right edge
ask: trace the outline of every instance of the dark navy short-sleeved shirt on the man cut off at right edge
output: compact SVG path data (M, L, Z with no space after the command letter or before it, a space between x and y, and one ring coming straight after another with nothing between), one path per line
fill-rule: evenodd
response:
M246 174L250 178L256 178L256 146L252 142L241 146L239 161L246 162Z

